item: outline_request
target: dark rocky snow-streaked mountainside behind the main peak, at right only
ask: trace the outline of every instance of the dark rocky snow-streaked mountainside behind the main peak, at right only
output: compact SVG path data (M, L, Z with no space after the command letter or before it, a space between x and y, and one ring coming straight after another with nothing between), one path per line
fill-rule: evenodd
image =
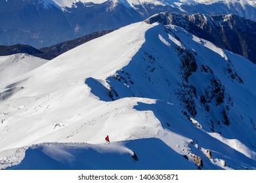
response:
M213 42L220 48L240 54L256 63L255 21L236 14L210 16L164 12L149 18L146 22L178 25L200 38Z

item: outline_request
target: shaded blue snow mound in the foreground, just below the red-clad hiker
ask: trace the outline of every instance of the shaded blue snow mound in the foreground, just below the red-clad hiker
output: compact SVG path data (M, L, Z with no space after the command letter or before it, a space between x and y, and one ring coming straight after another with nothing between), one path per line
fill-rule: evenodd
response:
M152 148L154 146L155 148ZM131 154L134 150L139 161ZM144 152L147 152L146 154ZM149 161L150 159L150 161ZM37 163L33 163L37 162ZM114 163L113 163L114 162ZM44 143L30 147L26 157L10 169L196 169L159 139L110 144Z

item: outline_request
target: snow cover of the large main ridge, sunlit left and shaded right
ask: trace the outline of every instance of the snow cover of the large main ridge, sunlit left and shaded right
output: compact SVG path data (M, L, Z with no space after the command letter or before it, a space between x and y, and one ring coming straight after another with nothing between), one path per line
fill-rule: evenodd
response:
M198 65L187 82L181 50L194 53ZM180 27L128 25L0 89L0 169L256 169L255 76L247 59ZM215 77L224 85L224 102L212 100L205 112L200 95ZM196 116L187 112L193 120L184 115L179 94L186 84L198 95L192 96ZM223 106L229 107L229 125L221 121Z

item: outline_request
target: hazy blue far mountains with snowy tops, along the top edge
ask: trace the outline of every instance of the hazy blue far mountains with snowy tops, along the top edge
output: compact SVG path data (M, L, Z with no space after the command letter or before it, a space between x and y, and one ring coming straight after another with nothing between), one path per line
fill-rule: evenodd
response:
M0 44L43 48L169 11L238 14L256 20L251 0L0 0Z

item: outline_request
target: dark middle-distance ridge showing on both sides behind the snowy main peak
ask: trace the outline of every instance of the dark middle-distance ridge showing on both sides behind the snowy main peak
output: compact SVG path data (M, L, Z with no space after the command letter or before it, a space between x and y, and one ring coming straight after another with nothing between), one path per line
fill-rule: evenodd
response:
M178 25L208 41L213 42L220 48L240 54L256 63L256 22L245 19L236 14L209 16L206 14L171 14L163 12L156 14L147 20L148 24L160 22L163 25ZM53 59L60 54L75 48L87 41L110 33L111 31L95 32L85 37L66 41L54 46L40 48L37 50L28 45L0 46L0 55L11 55L18 53L31 54L44 59Z

